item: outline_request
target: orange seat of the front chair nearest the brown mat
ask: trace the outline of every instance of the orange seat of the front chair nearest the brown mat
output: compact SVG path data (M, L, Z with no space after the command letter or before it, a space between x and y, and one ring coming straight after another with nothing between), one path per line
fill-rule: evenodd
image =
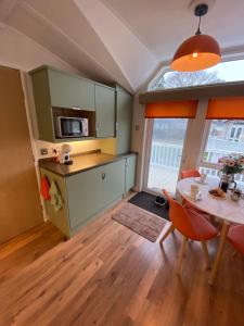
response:
M189 236L192 240L203 241L213 239L218 235L218 229L211 225L203 215L195 211L195 209L189 208L185 210L189 214L192 224L192 235Z

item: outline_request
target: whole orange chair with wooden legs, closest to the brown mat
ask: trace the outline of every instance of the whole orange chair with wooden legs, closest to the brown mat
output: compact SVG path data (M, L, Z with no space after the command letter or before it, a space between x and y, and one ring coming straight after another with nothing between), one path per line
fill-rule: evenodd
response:
M200 213L194 210L185 210L182 204L176 201L167 190L163 190L164 196L169 201L169 217L174 227L183 236L180 254L177 263L177 274L181 274L183 256L187 250L188 240L201 241L207 267L209 267L209 256L207 240L215 238L218 230Z

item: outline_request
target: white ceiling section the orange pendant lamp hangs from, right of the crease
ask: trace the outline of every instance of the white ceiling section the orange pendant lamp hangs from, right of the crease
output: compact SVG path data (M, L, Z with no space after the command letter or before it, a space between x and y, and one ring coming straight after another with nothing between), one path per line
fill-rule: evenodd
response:
M198 23L191 0L102 0L158 58L167 61ZM198 1L208 2L208 1ZM202 32L222 49L244 46L244 0L217 0L202 18Z

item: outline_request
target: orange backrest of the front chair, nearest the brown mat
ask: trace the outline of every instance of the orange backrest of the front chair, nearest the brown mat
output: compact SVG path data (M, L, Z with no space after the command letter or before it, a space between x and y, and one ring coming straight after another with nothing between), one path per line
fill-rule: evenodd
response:
M169 203L169 218L174 226L185 237L193 239L195 236L191 216L185 212L184 208L176 201L167 190L163 189L163 195L167 198Z

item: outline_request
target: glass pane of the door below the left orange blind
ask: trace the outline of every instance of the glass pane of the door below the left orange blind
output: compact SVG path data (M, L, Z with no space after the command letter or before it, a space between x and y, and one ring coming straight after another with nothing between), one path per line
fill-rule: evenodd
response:
M154 118L149 137L146 189L175 193L181 166L187 118Z

